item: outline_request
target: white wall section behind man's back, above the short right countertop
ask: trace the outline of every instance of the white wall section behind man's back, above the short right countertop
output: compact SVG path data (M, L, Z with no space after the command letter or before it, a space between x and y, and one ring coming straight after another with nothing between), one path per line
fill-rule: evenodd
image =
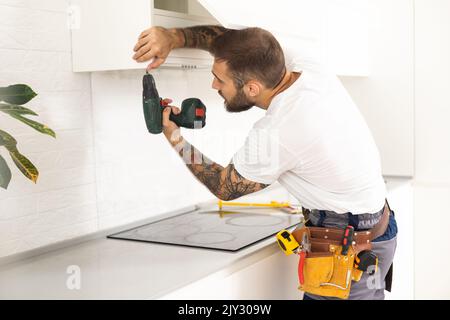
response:
M378 145L383 175L414 174L413 0L369 1L369 77L341 77Z

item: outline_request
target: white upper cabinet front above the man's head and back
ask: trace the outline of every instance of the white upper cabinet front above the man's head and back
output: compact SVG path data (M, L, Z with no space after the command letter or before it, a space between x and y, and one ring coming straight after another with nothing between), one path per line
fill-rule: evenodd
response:
M338 75L369 74L368 0L199 0L225 27L271 31L289 59L320 62Z

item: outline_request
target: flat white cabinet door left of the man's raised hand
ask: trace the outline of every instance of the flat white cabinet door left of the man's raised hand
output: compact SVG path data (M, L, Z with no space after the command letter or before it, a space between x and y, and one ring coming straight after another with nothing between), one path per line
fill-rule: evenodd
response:
M151 23L149 0L71 0L73 71L143 68L133 59L137 37Z

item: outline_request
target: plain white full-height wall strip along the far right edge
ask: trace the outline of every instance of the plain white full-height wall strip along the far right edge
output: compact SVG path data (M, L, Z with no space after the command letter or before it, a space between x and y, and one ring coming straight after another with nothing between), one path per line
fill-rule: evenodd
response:
M415 0L415 21L415 297L449 299L450 2Z

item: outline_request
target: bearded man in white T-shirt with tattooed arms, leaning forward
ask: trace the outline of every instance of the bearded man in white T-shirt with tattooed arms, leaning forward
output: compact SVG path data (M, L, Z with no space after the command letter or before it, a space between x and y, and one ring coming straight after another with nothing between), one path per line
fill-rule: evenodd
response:
M268 31L230 30L219 26L184 29L153 27L139 36L133 58L152 59L148 69L164 63L174 48L198 48L214 56L212 87L229 112L257 106L266 115L255 123L244 146L227 167L200 154L163 113L163 133L186 160L189 170L216 197L232 200L278 181L310 210L312 225L371 229L385 210L386 189L371 133L336 76L321 68L286 65L283 50ZM268 151L269 150L269 151ZM268 161L267 161L268 160ZM365 274L352 284L350 299L383 299L384 281L396 247L393 214L383 236L373 241L381 281ZM380 284L381 283L381 284ZM305 299L325 297L305 295Z

